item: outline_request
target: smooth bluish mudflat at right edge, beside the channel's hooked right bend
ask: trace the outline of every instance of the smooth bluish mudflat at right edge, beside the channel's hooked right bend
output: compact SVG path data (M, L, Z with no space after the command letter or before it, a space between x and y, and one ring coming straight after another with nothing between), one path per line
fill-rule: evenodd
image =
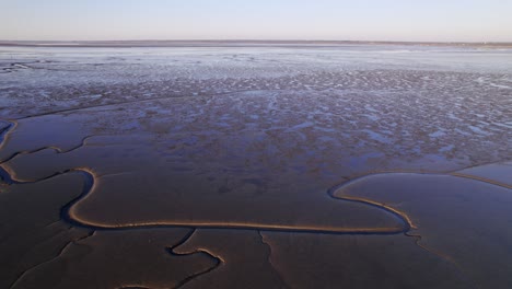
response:
M512 166L497 166L474 172L490 180L497 171L497 176L512 176ZM509 185L452 175L377 174L352 181L334 195L372 199L407 213L417 227L408 235L418 238L421 247L455 264L479 288L500 288L512 284L507 269L512 257L511 193Z

